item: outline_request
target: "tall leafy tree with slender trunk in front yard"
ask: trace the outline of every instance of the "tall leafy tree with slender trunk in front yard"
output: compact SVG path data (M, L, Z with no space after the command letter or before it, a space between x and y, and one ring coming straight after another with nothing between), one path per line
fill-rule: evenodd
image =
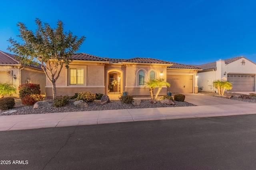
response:
M19 22L20 35L24 43L18 43L10 38L8 41L12 44L8 47L16 55L20 56L22 63L31 64L36 61L40 63L47 79L52 83L52 97L56 98L56 81L60 76L62 67L68 68L72 62L73 55L84 42L85 37L78 39L72 32L64 32L63 22L58 21L57 28L51 28L49 24L36 18L38 26L36 32L28 30L25 24Z

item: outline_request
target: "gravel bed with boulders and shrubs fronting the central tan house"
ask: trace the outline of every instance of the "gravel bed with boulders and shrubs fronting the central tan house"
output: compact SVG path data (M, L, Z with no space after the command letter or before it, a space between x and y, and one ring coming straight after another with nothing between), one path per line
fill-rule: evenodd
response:
M45 100L49 103L53 103L53 100ZM132 104L124 104L119 100L110 100L110 103L105 105L100 104L100 100L94 100L93 102L88 102L88 107L76 107L74 100L70 100L68 105L64 107L45 107L40 109L33 109L32 106L24 106L21 101L16 101L15 107L10 110L16 110L14 113L4 113L6 111L0 111L0 115L27 115L27 114L42 114L42 113L62 113L62 112L77 112L77 111L101 111L101 110L116 110L116 109L139 109L139 108L156 108L156 107L183 107L183 106L196 106L188 102L178 102L174 101L175 105L164 105L157 101L157 103L151 104L150 99L141 99L141 104L139 106L134 106Z

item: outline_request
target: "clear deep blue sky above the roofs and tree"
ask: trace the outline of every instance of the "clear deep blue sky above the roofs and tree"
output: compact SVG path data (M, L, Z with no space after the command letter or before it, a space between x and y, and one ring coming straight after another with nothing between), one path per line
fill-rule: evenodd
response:
M256 62L255 0L12 0L1 2L0 50L18 22L35 19L86 36L77 52L203 64L243 55ZM20 41L19 41L20 42Z

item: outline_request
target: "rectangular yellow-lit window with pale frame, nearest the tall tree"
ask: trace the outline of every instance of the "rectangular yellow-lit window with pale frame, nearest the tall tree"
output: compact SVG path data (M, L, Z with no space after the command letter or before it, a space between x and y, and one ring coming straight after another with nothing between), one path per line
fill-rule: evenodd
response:
M84 85L84 69L70 69L69 84Z

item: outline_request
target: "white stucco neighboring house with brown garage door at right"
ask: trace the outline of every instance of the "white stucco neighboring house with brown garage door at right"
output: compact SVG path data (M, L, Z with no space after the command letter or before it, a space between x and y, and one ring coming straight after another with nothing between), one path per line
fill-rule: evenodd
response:
M243 56L196 67L203 69L198 71L198 87L203 91L217 91L212 82L221 79L232 82L233 88L229 91L255 91L256 64Z

